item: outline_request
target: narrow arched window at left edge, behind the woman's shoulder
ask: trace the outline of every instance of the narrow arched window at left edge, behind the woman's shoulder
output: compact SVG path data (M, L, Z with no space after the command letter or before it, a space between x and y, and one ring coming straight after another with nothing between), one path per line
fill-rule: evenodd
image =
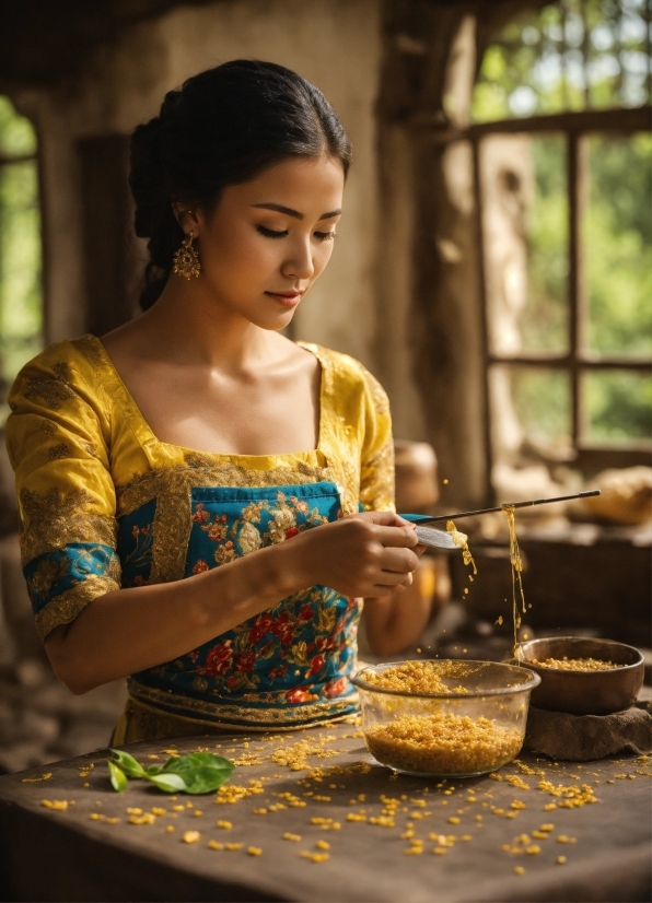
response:
M0 422L7 390L43 347L42 242L34 128L0 96Z

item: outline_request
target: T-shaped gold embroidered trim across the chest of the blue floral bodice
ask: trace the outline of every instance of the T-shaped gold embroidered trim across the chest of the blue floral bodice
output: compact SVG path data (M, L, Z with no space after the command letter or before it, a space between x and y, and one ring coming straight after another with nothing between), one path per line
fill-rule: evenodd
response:
M188 456L193 464L201 456ZM275 486L333 480L328 468L299 461L295 468L252 470L233 464L222 466L172 467L152 470L132 485L118 490L118 517L156 500L150 583L170 583L184 576L193 528L191 490L211 486Z

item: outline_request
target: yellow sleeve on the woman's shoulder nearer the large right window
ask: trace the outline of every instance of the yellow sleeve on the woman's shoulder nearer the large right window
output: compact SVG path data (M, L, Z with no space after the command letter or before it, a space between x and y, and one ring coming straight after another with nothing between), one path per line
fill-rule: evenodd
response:
M394 441L389 401L375 376L362 370L366 392L364 437L360 460L360 502L365 511L396 511Z

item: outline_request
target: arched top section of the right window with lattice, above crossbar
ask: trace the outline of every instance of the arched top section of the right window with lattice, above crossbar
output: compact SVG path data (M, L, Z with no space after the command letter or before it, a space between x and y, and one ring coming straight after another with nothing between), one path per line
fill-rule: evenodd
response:
M648 0L563 0L514 14L482 56L477 122L649 103Z

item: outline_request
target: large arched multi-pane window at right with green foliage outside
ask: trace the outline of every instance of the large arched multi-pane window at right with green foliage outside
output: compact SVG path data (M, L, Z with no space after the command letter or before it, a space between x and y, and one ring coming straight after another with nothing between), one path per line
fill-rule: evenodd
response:
M468 133L494 459L652 448L650 0L564 0L486 47Z

